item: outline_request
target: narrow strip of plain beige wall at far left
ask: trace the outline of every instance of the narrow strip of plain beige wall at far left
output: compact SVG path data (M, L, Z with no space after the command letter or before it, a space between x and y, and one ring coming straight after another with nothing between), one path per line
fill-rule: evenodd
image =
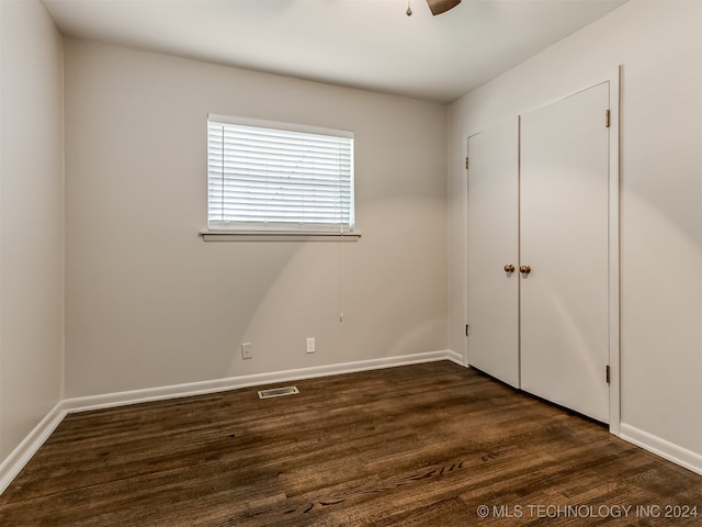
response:
M0 2L0 462L63 397L61 36Z

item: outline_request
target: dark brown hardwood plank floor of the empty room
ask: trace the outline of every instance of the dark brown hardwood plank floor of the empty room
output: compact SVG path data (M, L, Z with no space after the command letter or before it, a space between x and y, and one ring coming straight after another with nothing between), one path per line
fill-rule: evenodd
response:
M71 414L0 525L702 525L702 476L475 370L286 384Z

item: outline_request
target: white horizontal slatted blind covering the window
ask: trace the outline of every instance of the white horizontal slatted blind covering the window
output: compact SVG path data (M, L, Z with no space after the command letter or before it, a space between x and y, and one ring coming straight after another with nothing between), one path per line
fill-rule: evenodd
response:
M207 120L208 226L353 231L353 134L219 115Z

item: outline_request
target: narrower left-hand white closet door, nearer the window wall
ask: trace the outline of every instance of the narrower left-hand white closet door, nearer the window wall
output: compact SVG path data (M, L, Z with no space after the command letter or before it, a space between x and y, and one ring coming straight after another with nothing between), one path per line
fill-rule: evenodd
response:
M519 120L468 138L468 363L519 388Z

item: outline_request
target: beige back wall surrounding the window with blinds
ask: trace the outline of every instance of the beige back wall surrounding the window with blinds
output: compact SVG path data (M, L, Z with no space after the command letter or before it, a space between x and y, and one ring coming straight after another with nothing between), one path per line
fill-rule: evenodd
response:
M67 396L446 348L445 105L65 54ZM361 240L204 243L208 112L354 131Z

